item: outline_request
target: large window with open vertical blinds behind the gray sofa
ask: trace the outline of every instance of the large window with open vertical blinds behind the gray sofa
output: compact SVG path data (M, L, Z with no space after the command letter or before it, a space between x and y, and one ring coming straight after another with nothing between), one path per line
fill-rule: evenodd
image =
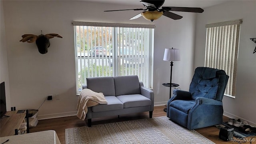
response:
M73 22L76 87L86 78L138 75L152 88L154 25Z

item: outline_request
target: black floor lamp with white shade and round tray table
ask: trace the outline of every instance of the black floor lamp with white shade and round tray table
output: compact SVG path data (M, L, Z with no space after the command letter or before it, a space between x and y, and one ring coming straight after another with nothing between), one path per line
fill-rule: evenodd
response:
M179 61L180 60L180 50L176 49L176 48L166 48L164 50L164 61L171 61L171 73L170 73L170 83L164 83L164 86L168 86L170 87L170 96L169 98L171 98L171 92L172 92L172 87L177 87L179 86L178 84L173 84L172 83L172 66L173 66L173 62L172 61ZM167 108L164 108L164 111L167 111Z

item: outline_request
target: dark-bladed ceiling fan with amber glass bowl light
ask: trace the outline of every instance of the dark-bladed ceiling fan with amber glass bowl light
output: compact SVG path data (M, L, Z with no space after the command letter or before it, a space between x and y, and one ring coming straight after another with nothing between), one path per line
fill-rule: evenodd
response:
M134 20L143 16L147 20L156 20L160 18L162 15L167 16L168 18L172 18L174 20L179 20L182 16L178 14L174 14L169 11L178 11L178 12L197 12L202 13L204 10L202 8L191 8L191 7L170 7L170 6L162 6L164 4L164 0L141 0L140 1L146 9L137 8L137 9L126 9L126 10L144 10L137 14L136 16L130 18L130 20ZM160 8L162 6L162 8ZM145 11L146 10L146 11ZM104 12L113 12L113 11L123 11L123 10L105 10Z

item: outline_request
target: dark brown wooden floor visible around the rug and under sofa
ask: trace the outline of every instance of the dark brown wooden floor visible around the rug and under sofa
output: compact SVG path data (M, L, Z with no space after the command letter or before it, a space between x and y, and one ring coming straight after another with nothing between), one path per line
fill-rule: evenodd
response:
M153 117L158 116L166 116L166 112L164 112L165 106L155 106ZM92 119L92 125L94 124L104 124L109 122L120 122L125 120L136 120L140 118L148 118L149 112L142 112L136 114L129 114L129 115L121 115L120 118L117 116L111 116L107 118L95 118ZM224 116L223 120L228 121L228 117ZM34 128L30 128L30 132L39 132L43 130L55 130L58 138L60 139L61 144L65 144L65 129L66 128L75 128L80 126L85 126L87 123L78 119L76 116L69 116L64 118L53 118L48 120L39 120L38 125ZM210 126L207 128L200 128L196 129L197 132L205 136L206 138L210 139L212 142L216 144L238 144L238 142L224 142L223 140L218 138L219 129ZM254 137L254 140L256 137ZM248 141L250 139L248 138ZM241 142L242 144L250 144L250 142ZM253 142L252 144L256 144Z

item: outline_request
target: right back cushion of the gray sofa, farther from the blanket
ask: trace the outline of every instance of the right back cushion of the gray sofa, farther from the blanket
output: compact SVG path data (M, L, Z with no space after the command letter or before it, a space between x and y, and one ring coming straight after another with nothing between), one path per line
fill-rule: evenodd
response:
M115 76L116 96L126 94L140 94L140 82L138 76Z

